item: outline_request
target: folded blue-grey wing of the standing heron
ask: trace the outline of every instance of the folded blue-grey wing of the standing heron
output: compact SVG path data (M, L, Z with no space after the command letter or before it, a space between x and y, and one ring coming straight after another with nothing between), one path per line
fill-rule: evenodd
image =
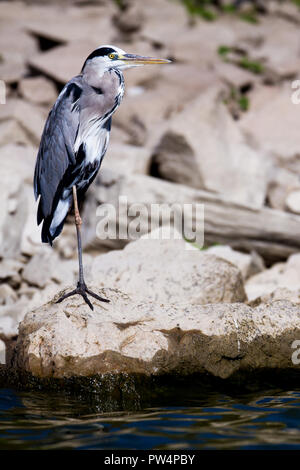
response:
M34 172L34 194L40 195L38 224L51 216L68 168L75 164L74 142L79 126L81 77L64 87L46 121Z

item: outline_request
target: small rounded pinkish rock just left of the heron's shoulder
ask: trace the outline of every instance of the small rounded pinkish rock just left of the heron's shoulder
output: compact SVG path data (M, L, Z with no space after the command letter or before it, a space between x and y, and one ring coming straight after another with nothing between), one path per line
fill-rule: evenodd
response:
M51 104L57 98L56 87L45 77L23 78L18 91L23 98L35 104Z

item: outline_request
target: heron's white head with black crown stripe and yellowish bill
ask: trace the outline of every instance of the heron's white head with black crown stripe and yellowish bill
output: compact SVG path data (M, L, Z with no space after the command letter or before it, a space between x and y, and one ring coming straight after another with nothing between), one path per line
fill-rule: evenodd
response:
M124 70L146 64L167 64L169 62L171 61L166 59L127 54L119 47L107 45L98 47L87 57L83 64L82 72L84 72L85 67L89 65L92 65L95 70L102 74L112 68Z

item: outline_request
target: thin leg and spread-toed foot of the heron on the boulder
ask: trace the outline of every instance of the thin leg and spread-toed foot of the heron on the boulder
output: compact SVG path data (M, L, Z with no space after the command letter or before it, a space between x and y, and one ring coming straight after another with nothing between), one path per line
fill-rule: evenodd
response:
M76 225L76 233L77 233L77 249L78 249L78 263L79 263L79 279L77 283L76 289L72 290L68 294L63 295L60 297L56 303L62 302L64 299L71 297L72 295L79 294L83 297L84 301L88 304L91 310L94 310L93 305L91 304L87 294L91 295L97 300L101 302L109 302L108 299L104 299L99 295L95 294L95 292L91 291L87 288L86 283L84 281L83 276L83 263L82 263L82 244L81 244L81 225L82 220L80 217L79 209L78 209L78 201L77 201L77 191L76 186L73 186L73 200L74 200L74 212L75 212L75 225Z

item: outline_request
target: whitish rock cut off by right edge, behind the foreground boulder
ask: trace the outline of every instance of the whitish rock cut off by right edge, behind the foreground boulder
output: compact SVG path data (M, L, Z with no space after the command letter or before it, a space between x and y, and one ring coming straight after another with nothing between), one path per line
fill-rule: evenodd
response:
M289 257L286 263L277 263L271 268L252 276L246 282L245 289L248 299L252 301L259 297L271 299L273 297L270 295L273 295L277 289L287 289L293 292L292 295L295 295L299 286L300 254L294 254Z

